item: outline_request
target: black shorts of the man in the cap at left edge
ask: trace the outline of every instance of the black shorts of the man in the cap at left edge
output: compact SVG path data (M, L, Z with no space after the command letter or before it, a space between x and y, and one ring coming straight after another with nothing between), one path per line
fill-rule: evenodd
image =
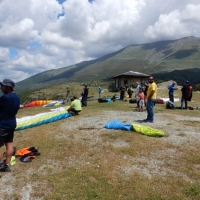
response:
M15 129L2 129L0 128L0 147L4 146L5 143L13 142Z

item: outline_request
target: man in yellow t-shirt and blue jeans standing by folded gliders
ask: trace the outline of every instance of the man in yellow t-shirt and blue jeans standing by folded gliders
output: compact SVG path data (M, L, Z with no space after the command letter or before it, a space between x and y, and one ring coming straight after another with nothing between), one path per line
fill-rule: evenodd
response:
M144 122L154 123L154 105L156 102L157 85L153 76L149 77L149 88L147 90L147 119Z

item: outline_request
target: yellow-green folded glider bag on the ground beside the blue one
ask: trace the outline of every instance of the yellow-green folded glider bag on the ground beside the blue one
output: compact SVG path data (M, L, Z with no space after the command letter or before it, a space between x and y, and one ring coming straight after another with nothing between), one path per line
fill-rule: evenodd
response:
M165 134L162 130L154 129L149 126L132 124L132 127L133 130L135 130L137 133L141 133L147 136L162 137Z

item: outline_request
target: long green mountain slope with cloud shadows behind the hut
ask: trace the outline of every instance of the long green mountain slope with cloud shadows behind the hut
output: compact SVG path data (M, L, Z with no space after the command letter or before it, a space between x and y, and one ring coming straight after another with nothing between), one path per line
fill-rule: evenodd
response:
M174 77L177 82L187 78L195 85L200 83L200 77L194 80L192 75L197 76L199 69L200 38L185 37L130 45L95 60L48 70L18 82L16 92L71 82L105 80L126 71L153 74L162 80L171 80Z

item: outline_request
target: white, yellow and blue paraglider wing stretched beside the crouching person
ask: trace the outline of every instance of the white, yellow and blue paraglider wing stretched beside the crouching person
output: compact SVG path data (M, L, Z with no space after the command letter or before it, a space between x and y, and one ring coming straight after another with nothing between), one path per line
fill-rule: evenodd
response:
M42 124L48 124L50 122L55 122L60 119L65 119L72 116L66 110L64 111L53 111L53 112L46 112L40 113L34 116L26 116L22 118L17 118L17 127L16 131L23 130L26 128L31 128L34 126L40 126Z

